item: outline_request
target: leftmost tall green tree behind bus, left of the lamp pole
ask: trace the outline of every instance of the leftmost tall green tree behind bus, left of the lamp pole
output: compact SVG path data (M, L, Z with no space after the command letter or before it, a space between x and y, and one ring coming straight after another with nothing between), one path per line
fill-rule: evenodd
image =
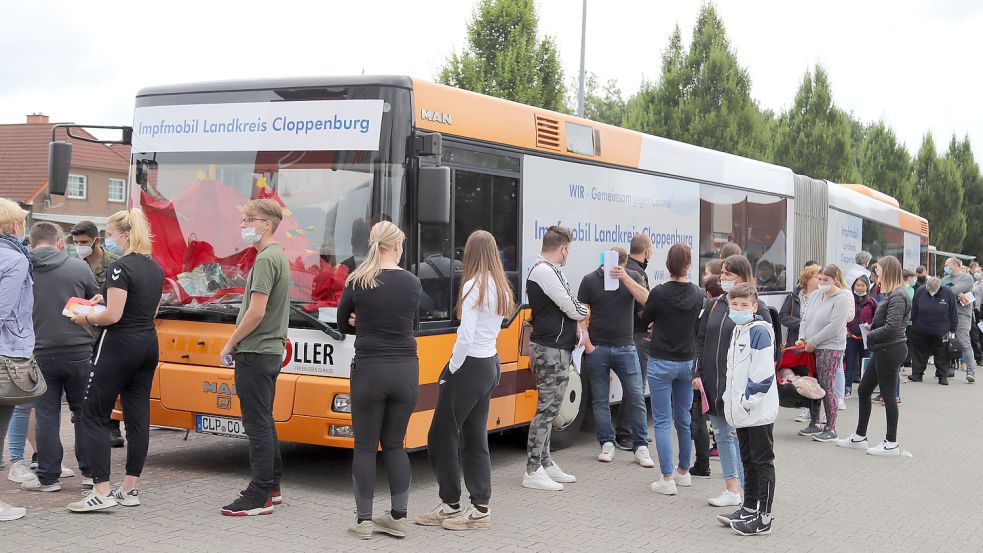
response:
M467 46L451 54L443 84L541 108L564 111L563 69L552 37L538 37L533 0L480 0Z

